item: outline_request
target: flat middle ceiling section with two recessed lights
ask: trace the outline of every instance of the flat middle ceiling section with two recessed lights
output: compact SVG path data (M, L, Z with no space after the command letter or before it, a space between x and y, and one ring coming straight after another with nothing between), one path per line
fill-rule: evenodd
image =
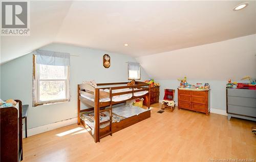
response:
M255 1L234 12L240 3L76 1L55 41L139 57L254 34Z

